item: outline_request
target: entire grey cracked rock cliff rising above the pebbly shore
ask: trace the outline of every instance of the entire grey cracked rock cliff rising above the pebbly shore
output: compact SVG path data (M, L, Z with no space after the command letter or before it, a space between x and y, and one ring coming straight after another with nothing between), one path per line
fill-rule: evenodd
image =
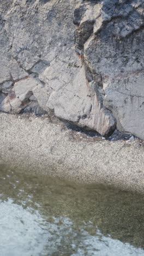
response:
M144 139L142 0L0 0L0 110Z

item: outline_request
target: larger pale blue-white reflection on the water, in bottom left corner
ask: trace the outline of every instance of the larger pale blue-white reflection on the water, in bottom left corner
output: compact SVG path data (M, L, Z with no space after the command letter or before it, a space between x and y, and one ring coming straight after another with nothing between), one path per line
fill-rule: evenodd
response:
M11 199L0 201L1 255L40 255L47 243L44 219Z

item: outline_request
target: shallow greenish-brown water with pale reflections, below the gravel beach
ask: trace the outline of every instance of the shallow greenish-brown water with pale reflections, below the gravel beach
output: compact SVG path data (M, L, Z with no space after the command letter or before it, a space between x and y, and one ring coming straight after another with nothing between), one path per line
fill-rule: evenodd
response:
M1 256L144 255L144 198L0 167Z

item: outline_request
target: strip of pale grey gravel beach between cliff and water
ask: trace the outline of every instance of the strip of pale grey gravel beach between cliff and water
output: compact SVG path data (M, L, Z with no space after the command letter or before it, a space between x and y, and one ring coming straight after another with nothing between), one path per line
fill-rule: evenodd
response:
M78 183L144 193L140 139L109 141L51 123L47 115L0 113L0 164Z

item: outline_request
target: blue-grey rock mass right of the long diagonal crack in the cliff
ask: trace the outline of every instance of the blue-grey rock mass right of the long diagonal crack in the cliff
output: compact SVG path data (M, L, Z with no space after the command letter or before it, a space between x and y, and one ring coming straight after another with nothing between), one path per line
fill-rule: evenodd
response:
M143 7L143 1L135 0L83 1L77 5L76 13L81 9L85 13L78 17L79 23L75 22L77 52L83 54L95 82L100 75L103 104L116 118L117 129L142 139ZM92 21L93 31L85 40L83 23Z

